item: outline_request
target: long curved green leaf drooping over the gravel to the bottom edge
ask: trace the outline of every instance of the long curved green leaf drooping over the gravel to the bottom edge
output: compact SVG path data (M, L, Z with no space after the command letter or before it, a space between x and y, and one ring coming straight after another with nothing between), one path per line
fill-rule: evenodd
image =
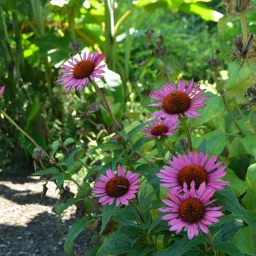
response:
M67 256L72 255L72 248L75 238L77 238L78 235L86 228L86 224L90 220L90 217L85 216L82 219L79 219L77 222L75 222L70 228L69 233L67 233L66 241L64 244L64 251L67 254Z

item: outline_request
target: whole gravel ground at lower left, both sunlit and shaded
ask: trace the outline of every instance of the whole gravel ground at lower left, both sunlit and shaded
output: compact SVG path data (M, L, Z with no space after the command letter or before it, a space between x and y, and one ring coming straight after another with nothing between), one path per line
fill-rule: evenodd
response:
M64 256L65 236L56 230L53 206L59 198L53 182L41 197L45 181L38 177L0 176L0 255ZM75 222L75 206L65 211L61 229L67 233ZM73 255L86 255L90 233L75 240Z

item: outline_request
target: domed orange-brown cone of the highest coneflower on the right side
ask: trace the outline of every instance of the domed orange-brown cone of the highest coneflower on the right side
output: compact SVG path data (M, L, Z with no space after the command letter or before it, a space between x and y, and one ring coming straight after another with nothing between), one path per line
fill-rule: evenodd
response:
M189 95L182 91L173 91L168 94L163 102L163 107L167 113L181 114L189 109Z

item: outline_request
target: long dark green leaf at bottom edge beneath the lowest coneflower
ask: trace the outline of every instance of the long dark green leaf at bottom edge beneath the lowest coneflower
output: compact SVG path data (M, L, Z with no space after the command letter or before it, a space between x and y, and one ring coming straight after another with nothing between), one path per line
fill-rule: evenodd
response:
M198 244L203 244L203 242L204 239L201 236L197 236L197 238L192 240L189 240L187 236L184 236L181 241L176 242L167 249L155 252L153 256L181 256L192 247L197 246Z

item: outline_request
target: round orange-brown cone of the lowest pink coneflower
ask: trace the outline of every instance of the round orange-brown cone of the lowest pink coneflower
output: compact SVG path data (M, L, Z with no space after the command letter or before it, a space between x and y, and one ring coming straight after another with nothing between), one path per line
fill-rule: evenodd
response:
M179 206L178 214L184 221L195 223L202 219L205 210L205 206L199 199L187 198Z

